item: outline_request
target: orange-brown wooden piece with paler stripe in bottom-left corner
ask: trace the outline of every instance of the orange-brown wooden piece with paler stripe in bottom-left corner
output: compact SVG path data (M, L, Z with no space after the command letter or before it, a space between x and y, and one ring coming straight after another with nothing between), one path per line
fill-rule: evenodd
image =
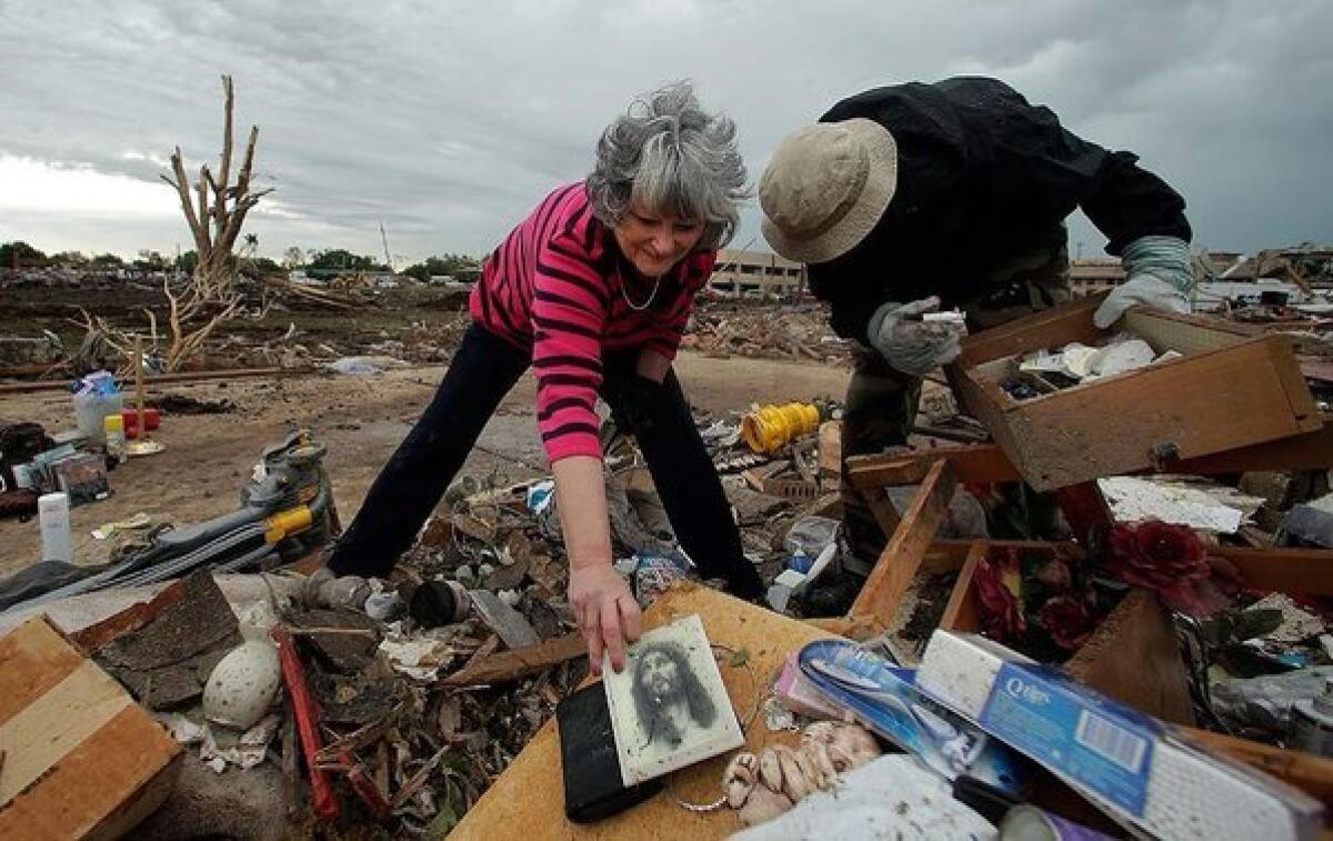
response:
M117 838L167 800L184 752L44 616L0 640L0 837Z

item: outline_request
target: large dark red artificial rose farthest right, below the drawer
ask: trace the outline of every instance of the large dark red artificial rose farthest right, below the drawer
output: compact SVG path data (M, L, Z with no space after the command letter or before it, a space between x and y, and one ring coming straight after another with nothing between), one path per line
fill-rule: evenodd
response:
M1106 569L1126 584L1153 590L1177 588L1206 578L1208 552L1185 525L1148 520L1137 526L1117 525L1110 532Z

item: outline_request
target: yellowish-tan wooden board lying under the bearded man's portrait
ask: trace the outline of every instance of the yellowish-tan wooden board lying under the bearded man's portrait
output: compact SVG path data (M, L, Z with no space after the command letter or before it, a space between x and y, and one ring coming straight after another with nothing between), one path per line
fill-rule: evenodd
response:
M754 709L768 692L769 682L781 672L786 656L806 642L829 638L810 625L778 616L764 608L692 584L681 584L660 596L644 613L644 626L657 628L672 620L697 613L704 630L714 645L733 652L748 652L745 665L730 666L722 654L721 672L741 722L753 716L745 728L745 750L758 753L766 745L796 745L796 733L772 733L764 714ZM722 756L677 772L666 790L652 800L597 824L577 825L565 818L564 789L560 769L560 737L556 722L548 721L523 753L496 780L495 785L464 816L451 838L720 838L741 829L736 813L721 809L692 813L673 800L706 804L721 793L722 769L729 757Z

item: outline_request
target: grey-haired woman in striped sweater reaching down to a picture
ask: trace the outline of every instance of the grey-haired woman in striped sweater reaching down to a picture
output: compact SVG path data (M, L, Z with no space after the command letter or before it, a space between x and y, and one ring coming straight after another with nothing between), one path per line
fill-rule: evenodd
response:
M472 291L473 324L444 381L328 566L388 574L531 365L569 553L569 602L592 672L600 673L603 650L623 669L640 624L639 604L612 568L599 396L636 436L701 576L757 597L758 576L672 372L745 189L734 124L702 111L689 84L635 101L603 133L592 175L547 196L487 259Z

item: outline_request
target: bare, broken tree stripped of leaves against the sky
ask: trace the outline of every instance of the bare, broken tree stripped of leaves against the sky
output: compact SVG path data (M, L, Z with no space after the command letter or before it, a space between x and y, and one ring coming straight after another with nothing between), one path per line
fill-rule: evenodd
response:
M223 76L225 97L225 124L223 128L223 155L215 177L204 164L199 177L191 184L185 176L185 159L180 147L171 156L172 176L161 176L176 188L185 221L195 237L195 252L199 261L187 284L172 291L171 283L163 283L163 291L171 303L169 327L171 348L165 353L165 367L175 371L183 361L193 356L216 328L237 313L241 296L236 289L239 255L236 243L241 237L245 215L259 204L261 196L272 189L251 191L251 173L255 168L255 144L259 141L259 127L252 125L245 156L232 183L232 107L235 95L232 77ZM244 248L253 248L253 237L247 237Z

